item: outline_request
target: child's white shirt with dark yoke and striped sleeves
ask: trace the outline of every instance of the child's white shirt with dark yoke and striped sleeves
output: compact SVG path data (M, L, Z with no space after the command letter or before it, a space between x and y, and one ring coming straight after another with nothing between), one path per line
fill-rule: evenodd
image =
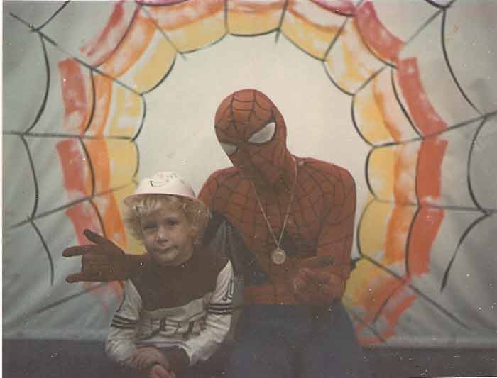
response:
M210 249L196 250L179 267L148 260L125 282L107 355L128 365L138 346L170 348L165 355L175 371L209 359L229 331L233 289L231 262Z

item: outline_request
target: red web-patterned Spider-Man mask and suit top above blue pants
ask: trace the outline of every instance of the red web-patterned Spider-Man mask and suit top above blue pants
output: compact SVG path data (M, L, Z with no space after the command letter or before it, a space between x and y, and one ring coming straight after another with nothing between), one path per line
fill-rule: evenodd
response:
M258 268L266 273L264 282L246 282L246 304L321 304L340 298L351 267L356 208L349 172L291 155L283 116L254 89L236 91L224 99L215 128L234 167L214 172L199 198L238 228L255 253ZM280 247L288 257L277 265L271 252L277 247L275 239L280 238L287 211ZM332 256L332 264L318 267L319 256ZM310 272L302 272L302 266Z

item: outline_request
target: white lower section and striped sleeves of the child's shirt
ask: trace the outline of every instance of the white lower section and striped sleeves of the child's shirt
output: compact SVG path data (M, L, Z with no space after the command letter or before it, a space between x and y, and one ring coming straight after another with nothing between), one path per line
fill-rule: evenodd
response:
M124 301L112 318L106 343L107 355L123 362L140 345L179 347L190 364L207 360L226 337L231 324L234 293L231 262L217 274L214 291L184 306L145 310L141 295L126 281Z

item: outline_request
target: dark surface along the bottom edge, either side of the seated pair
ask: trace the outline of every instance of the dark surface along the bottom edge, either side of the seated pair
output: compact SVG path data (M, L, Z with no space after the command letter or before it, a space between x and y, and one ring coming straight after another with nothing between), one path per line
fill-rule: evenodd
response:
M497 377L495 349L366 348L373 378ZM4 340L4 378L111 378L102 343Z

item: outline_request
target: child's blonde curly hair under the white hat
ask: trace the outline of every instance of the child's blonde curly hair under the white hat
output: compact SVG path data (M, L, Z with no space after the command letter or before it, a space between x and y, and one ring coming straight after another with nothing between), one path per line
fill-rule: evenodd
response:
M211 217L209 209L202 201L193 201L192 199L173 195L148 194L139 196L131 204L128 204L124 211L124 223L131 235L143 243L141 218L162 206L175 206L176 209L181 209L190 224L190 235L192 235L193 244L200 245L202 243L207 223L209 223Z

